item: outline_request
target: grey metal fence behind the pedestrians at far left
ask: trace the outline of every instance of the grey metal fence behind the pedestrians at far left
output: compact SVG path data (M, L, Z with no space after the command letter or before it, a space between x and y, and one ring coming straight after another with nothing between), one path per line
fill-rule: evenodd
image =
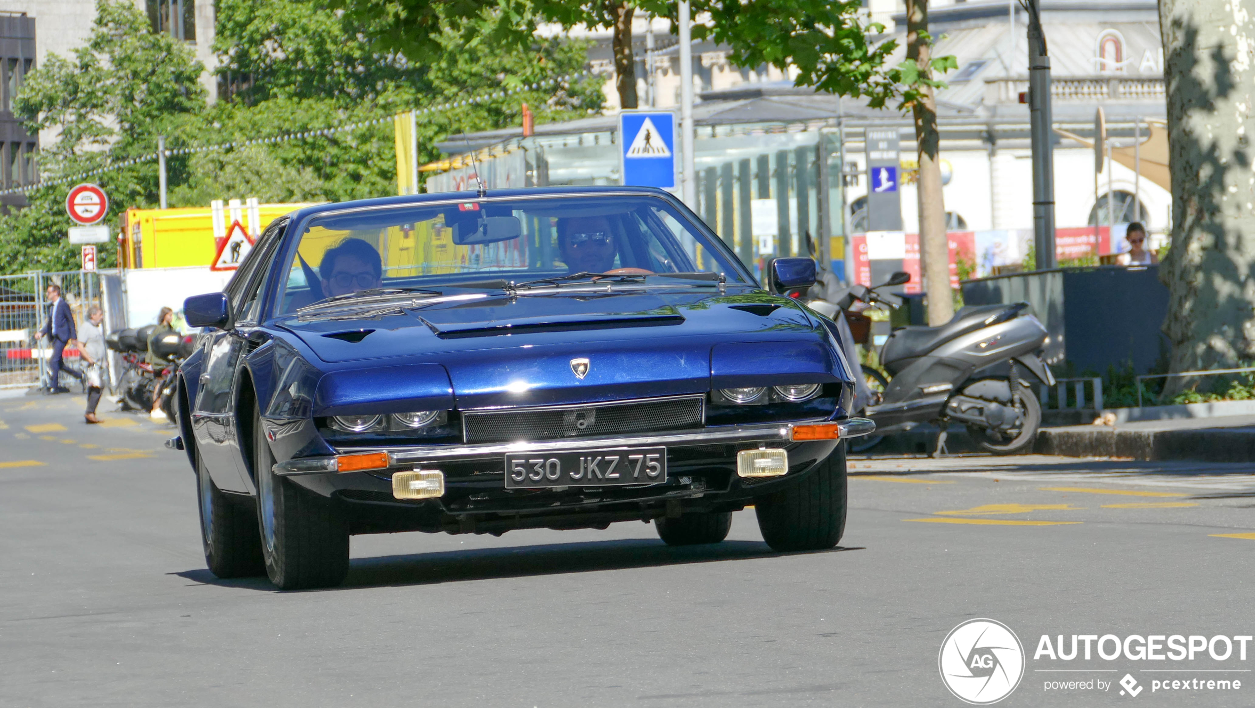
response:
M45 291L59 285L74 321L87 320L93 305L104 311L104 329L125 326L125 303L118 271L28 272L0 276L0 388L26 388L46 384L51 346L35 335L48 321ZM78 365L78 349L67 348L65 360ZM117 357L110 353L110 379L117 380Z

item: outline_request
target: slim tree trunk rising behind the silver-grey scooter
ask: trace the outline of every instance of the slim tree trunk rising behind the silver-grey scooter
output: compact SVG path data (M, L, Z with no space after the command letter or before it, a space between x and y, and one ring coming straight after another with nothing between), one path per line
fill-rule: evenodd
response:
M931 59L926 40L929 1L906 0L906 58L915 59L924 78L931 78ZM945 201L941 196L940 136L932 87L921 85L921 97L911 104L915 115L915 143L919 147L920 265L924 292L929 300L929 326L943 325L954 316L950 294L950 245L945 232Z

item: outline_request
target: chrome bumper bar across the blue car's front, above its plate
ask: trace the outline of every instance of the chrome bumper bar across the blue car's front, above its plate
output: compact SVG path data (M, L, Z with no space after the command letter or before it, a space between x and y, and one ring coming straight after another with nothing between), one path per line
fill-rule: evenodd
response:
M443 444L423 447L403 447L388 449L351 449L345 454L364 454L387 452L388 467L400 467L442 461L467 461L492 458L510 452L579 452L582 449L615 447L669 447L689 444L735 444L747 442L788 443L793 441L793 428L797 426L820 426L822 421L799 423L771 423L758 426L737 426L727 429L680 431L645 436L615 436L567 438L545 442L516 443L478 443ZM876 429L876 423L867 418L848 418L836 423L841 439L866 436ZM290 459L274 466L275 475L292 477L297 475L326 475L339 472L336 457L306 457Z

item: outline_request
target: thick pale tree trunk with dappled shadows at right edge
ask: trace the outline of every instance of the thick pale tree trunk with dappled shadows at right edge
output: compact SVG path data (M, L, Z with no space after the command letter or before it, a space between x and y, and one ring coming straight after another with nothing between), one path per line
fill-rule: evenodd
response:
M1255 359L1255 3L1160 0L1172 168L1171 372ZM1206 382L1207 379L1202 379ZM1166 394L1199 383L1168 379ZM1204 385L1209 385L1204 383Z

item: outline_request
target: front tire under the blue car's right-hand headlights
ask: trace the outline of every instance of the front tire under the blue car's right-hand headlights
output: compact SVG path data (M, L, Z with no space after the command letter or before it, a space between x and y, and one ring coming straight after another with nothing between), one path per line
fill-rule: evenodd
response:
M758 528L776 551L831 549L846 531L846 446L801 481L754 500Z

